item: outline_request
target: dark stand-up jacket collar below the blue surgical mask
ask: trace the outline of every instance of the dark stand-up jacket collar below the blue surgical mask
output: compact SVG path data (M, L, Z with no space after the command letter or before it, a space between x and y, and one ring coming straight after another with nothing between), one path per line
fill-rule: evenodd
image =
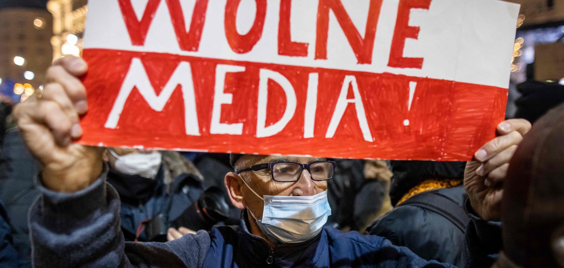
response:
M240 256L246 267L265 267L272 254L272 265L276 267L311 267L319 257L318 247L327 244L327 235L323 231L314 238L300 243L285 243L271 248L264 239L253 235L248 230L246 210L241 213L238 247L235 256ZM322 241L323 240L323 241Z

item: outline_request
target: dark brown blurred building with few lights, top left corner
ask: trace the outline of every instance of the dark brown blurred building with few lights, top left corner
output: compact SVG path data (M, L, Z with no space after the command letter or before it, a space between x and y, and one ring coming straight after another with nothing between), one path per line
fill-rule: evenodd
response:
M52 16L39 8L0 9L0 83L27 84L37 88L45 82L51 65ZM28 93L33 92L28 89ZM25 95L20 92L19 95ZM27 96L23 97L23 99Z

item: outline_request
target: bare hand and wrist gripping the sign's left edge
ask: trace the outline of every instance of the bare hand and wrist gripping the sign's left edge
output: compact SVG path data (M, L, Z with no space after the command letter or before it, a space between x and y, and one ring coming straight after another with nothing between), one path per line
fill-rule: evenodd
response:
M25 143L43 165L43 184L53 191L85 189L102 173L103 148L71 143L82 136L79 117L88 110L86 89L78 79L87 69L78 57L56 60L41 96L36 93L14 109Z

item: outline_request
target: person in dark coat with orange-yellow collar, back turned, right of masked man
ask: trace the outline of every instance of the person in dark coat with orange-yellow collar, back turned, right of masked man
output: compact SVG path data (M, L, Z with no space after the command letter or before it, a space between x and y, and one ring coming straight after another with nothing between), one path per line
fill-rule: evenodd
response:
M384 236L425 260L465 267L465 229L470 218L462 185L466 162L391 161L395 208L369 234Z

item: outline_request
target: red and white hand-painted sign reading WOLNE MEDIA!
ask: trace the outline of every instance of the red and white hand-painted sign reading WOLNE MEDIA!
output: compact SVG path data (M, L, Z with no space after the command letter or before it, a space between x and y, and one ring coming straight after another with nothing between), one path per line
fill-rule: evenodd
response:
M519 6L95 0L86 145L469 160L504 119Z

